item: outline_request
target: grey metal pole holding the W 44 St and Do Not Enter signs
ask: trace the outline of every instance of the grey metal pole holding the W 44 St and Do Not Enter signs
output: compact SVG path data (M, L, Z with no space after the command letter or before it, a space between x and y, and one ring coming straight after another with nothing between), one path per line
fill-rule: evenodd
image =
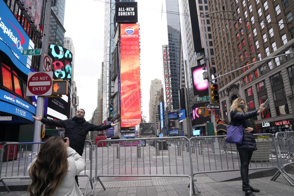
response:
M50 30L50 17L51 17L51 2L52 0L47 0L46 2L46 10L45 10L45 20L44 20L44 29L43 29L43 41L42 41L42 51L41 51L41 59L39 71L43 71L43 58L44 52L48 51L49 44L49 30ZM44 97L38 96L37 106L36 106L36 117L42 116L44 112ZM41 141L41 121L35 120L34 127L34 142ZM38 153L38 145L32 146L32 153Z

